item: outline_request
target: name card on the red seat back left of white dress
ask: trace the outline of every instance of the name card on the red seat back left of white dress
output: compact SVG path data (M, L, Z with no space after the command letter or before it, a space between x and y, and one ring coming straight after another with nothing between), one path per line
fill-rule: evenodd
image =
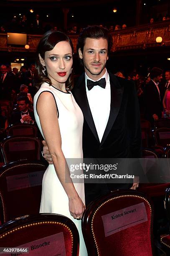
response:
M26 187L36 187L42 184L45 171L29 172L6 177L8 192L24 189Z

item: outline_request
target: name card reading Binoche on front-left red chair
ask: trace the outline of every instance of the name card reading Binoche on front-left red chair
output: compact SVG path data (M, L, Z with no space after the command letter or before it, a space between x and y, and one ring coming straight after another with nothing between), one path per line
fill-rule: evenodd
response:
M25 254L29 256L66 256L63 232L17 246L17 248L20 247L29 248L29 253ZM17 254L3 253L2 255L11 256Z

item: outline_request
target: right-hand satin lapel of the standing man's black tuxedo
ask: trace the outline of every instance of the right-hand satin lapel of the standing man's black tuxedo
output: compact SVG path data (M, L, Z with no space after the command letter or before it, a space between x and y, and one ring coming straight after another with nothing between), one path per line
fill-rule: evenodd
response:
M111 92L111 102L110 102L110 114L109 114L109 120L107 122L106 129L103 134L103 138L101 140L101 145L106 140L114 121L117 118L117 115L119 113L119 109L122 102L122 95L124 91L124 87L121 88L117 78L109 73L109 79L110 79L110 92Z

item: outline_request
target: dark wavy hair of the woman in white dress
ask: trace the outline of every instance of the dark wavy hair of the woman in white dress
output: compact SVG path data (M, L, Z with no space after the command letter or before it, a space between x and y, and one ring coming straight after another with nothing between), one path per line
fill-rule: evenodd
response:
M49 85L51 85L51 79L47 76L47 71L45 71L45 74L43 74L43 65L40 62L39 54L41 58L44 59L45 52L51 51L55 47L56 44L58 44L61 41L67 41L72 49L72 52L74 52L73 43L71 42L71 39L69 36L67 36L65 33L60 31L48 31L46 32L41 40L39 41L38 47L37 47L37 53L36 53L36 72L38 73L38 78L36 79L36 87L39 88L42 83L47 82ZM74 86L74 75L73 72L70 74L69 78L66 81L66 89L71 90Z

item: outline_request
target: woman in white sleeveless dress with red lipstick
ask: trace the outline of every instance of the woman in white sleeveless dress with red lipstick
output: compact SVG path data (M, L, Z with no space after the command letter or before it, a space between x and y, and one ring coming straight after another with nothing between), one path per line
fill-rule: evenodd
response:
M70 38L59 31L44 34L37 48L37 84L41 87L34 97L34 114L53 165L43 176L40 212L58 213L73 220L79 230L79 255L86 256L80 220L85 209L84 182L73 184L67 164L67 159L83 159L83 114L70 92L72 65Z

